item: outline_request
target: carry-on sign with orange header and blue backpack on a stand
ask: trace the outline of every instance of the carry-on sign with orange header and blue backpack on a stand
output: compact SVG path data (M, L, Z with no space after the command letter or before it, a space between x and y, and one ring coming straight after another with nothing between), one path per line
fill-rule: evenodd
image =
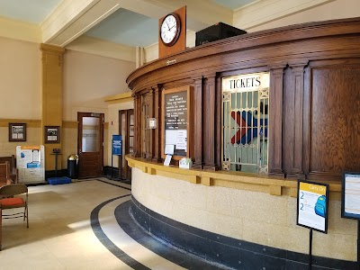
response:
M297 224L327 233L328 185L299 181Z

